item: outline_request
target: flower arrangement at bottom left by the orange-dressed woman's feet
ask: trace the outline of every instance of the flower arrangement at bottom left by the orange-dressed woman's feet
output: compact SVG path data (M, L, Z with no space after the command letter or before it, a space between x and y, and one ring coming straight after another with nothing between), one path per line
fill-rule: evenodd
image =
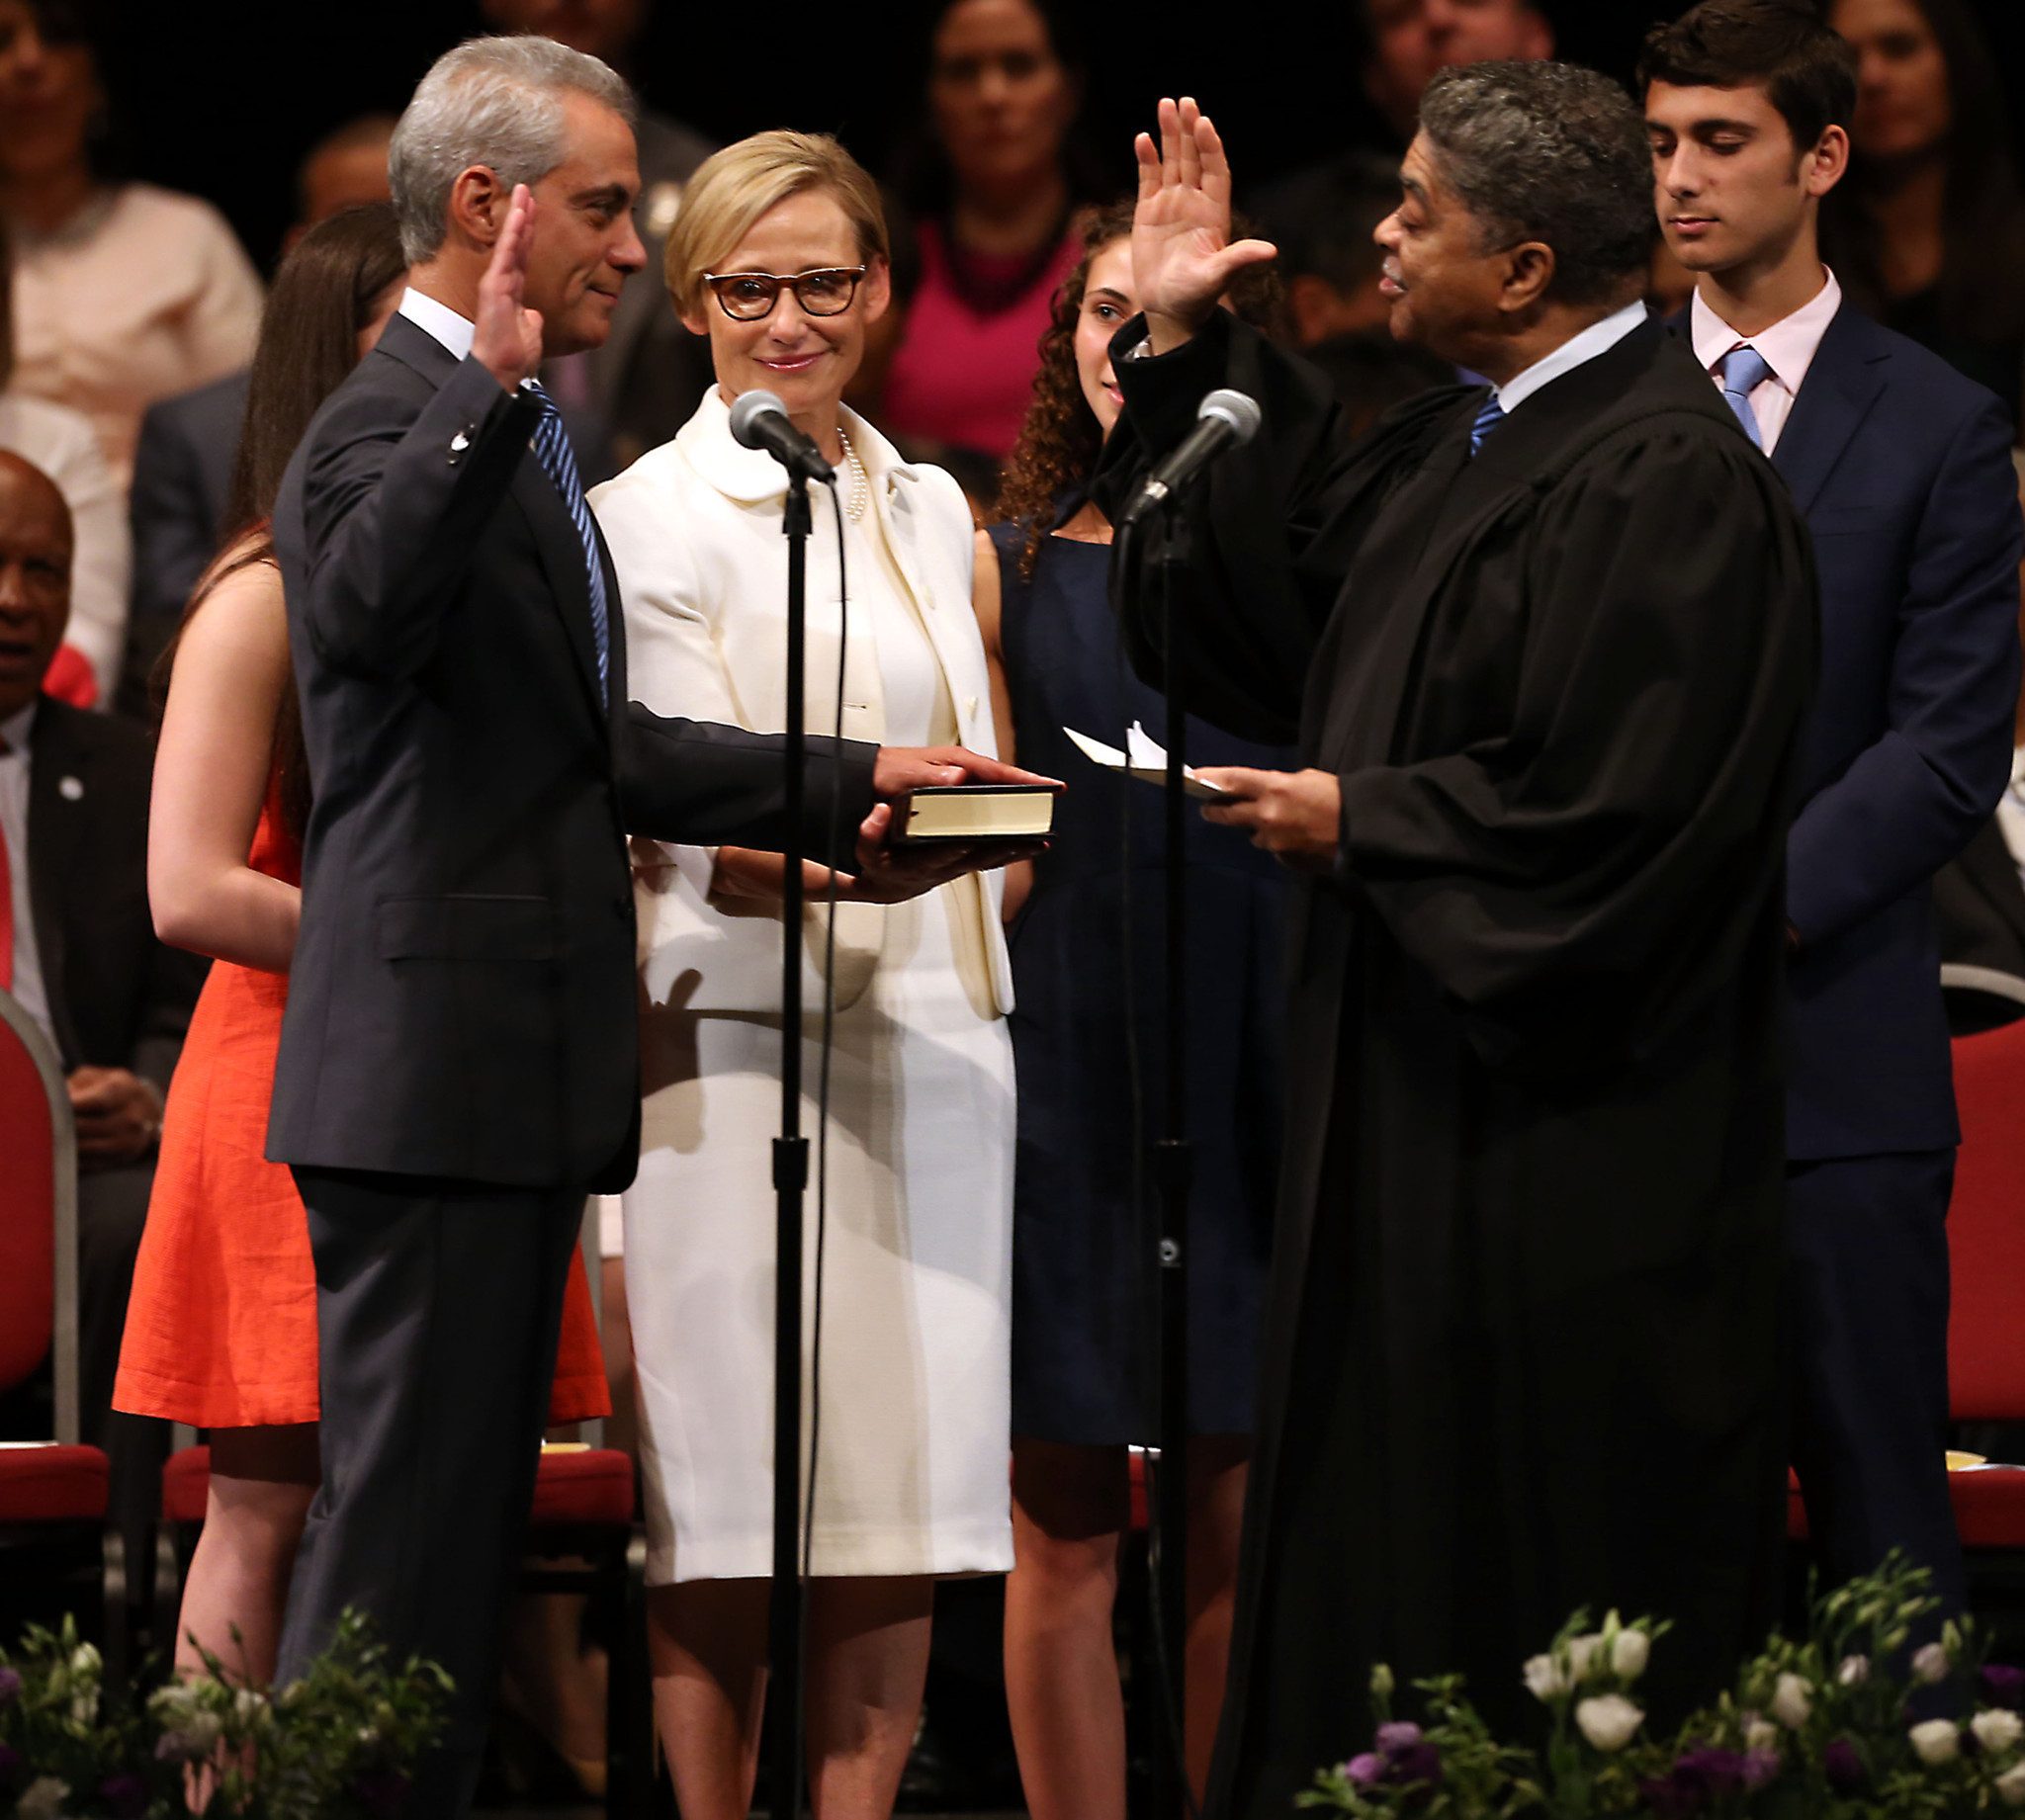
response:
M395 1666L346 1611L330 1650L273 1694L202 1678L146 1701L107 1692L65 1618L0 1650L0 1814L18 1820L391 1820L441 1729L450 1678Z

